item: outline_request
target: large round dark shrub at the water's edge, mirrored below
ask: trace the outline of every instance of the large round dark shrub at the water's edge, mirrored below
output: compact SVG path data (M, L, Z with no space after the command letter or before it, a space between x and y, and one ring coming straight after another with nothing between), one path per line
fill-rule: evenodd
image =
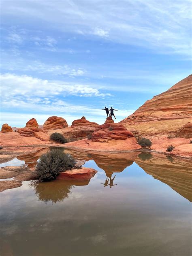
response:
M53 149L43 156L36 165L40 181L51 181L61 171L70 170L75 166L75 159L58 149Z

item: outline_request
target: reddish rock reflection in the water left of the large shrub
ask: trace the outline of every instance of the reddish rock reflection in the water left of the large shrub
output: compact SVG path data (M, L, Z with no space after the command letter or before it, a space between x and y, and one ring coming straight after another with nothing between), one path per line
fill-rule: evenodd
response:
M35 167L37 164L37 160L45 153L49 151L48 147L41 148L35 153L30 153L26 155L17 156L18 160L25 161L29 168Z

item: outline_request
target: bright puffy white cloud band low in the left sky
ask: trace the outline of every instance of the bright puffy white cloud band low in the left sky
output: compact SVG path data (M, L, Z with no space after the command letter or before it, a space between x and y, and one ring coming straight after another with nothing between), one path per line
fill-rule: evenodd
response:
M74 71L75 72L75 71ZM63 81L48 81L39 78L34 78L27 75L14 75L10 73L0 75L2 84L3 98L8 100L10 97L15 96L55 96L62 94L74 96L105 96L98 89L90 87L89 85L79 83L67 83ZM13 98L13 100L15 100ZM22 99L20 99L22 100Z

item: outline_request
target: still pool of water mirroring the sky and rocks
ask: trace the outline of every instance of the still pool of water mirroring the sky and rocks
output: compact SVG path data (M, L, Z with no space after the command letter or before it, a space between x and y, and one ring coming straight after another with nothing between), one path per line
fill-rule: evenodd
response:
M1 256L192 254L190 160L67 152L98 173L83 183L25 181L1 192ZM35 165L38 157L19 159Z

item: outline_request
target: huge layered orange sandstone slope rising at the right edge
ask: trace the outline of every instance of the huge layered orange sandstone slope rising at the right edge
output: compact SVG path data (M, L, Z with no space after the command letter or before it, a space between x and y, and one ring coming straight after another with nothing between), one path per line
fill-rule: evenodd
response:
M120 123L128 130L134 128L153 139L161 136L176 138L179 129L189 122L192 122L192 75L147 100Z

